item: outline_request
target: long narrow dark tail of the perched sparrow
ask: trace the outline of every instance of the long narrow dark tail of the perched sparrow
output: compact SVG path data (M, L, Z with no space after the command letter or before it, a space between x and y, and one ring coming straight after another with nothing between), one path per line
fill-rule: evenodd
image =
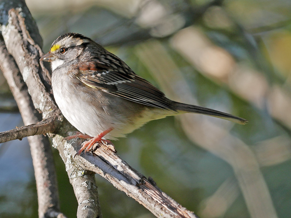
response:
M189 113L196 113L196 114L204 114L208 115L211 117L218 117L221 119L226 119L238 124L247 124L249 121L240 117L236 117L231 114L227 114L224 112L220 112L218 110L212 110L210 108L203 108L200 106L196 105L191 105L191 104L184 104L184 103L179 103L179 102L173 102L175 104L175 110L180 110L180 111L185 111Z

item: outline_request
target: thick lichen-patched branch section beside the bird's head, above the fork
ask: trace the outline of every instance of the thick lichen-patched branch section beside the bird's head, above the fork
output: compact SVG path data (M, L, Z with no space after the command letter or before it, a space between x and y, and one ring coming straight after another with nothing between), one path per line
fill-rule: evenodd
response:
M23 7L15 5L15 8L12 7L13 4L10 4L10 2L2 2L2 4L7 4L4 7L8 10L6 11L7 20L1 22L5 25L1 25L0 28L6 48L19 67L34 107L42 112L43 119L54 117L61 112L54 104L52 96L47 92L47 87L44 86L40 77L42 75L42 78L46 78L45 75L48 75L48 72L45 67L39 64L40 55L43 53L38 45L38 43L41 43L41 38L39 34L38 37L36 36L38 29L24 1L15 1L16 5L20 3L23 5ZM11 9L9 10L9 8ZM24 19L20 12L30 16ZM5 19L6 16L2 16L2 18ZM29 35L27 29L34 35ZM47 80L48 78L45 79L45 81Z

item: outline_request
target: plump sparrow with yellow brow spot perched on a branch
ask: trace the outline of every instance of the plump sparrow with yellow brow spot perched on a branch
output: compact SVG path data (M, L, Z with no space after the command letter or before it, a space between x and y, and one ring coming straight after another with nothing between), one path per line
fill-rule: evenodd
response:
M131 133L150 120L197 113L246 124L247 120L217 110L167 99L122 60L88 37L66 33L40 58L51 62L54 98L64 117L81 133L77 152L101 140ZM71 138L71 137L68 137Z

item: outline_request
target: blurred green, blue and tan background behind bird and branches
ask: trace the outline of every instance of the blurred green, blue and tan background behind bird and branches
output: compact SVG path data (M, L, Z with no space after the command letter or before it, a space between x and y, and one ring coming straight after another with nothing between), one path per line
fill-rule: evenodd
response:
M201 218L291 217L291 1L26 1L44 40L91 37L170 99L248 119L151 121L118 155ZM0 74L0 131L22 125ZM54 150L61 210L77 201ZM27 140L0 145L0 217L38 217ZM103 217L154 217L97 175Z

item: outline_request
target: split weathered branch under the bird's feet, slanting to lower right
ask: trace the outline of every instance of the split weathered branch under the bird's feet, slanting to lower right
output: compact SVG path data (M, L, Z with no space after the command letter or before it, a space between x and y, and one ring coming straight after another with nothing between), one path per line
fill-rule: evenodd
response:
M74 148L68 142L62 141L62 139L62 137L56 135L53 139L53 144L58 146L59 151L64 150L64 153L60 152L60 155L63 160L66 160L66 168L78 164L81 169L90 170L101 175L157 217L197 218L193 212L182 207L166 193L162 192L152 179L146 179L145 176L120 159L114 151L108 149L108 146L99 144L94 151L94 155L88 152L74 158L74 154L79 150L79 147L75 146ZM69 142L71 141L74 142L74 140ZM80 142L80 140L77 140L74 144L80 144Z

